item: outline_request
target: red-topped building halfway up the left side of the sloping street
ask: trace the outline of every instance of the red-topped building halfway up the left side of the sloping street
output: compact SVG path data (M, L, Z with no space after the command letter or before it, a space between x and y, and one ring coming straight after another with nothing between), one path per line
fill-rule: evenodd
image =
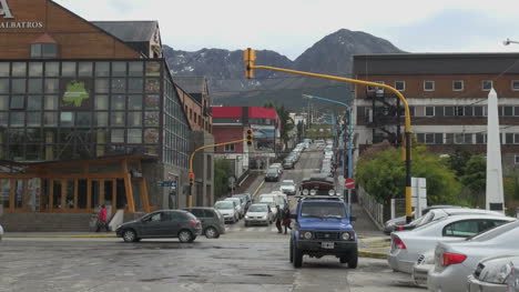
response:
M279 119L275 109L256 107L213 107L215 143L245 139L253 130L254 143L245 142L217 147L215 158L227 159L236 178L248 170L265 168L275 158L275 142L279 138Z

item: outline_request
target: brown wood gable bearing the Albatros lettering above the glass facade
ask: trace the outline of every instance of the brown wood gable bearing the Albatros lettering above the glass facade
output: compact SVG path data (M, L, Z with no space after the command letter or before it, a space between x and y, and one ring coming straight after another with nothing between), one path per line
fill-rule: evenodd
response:
M14 19L42 22L41 29L0 29L0 59L30 58L30 44L49 33L60 46L59 58L139 58L139 52L72 12L47 0L9 2Z

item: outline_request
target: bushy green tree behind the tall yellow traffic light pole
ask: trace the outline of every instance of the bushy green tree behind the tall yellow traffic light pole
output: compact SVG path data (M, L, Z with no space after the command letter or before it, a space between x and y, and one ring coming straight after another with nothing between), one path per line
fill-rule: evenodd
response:
M427 179L427 201L429 204L459 203L461 185L455 173L425 147L413 148L413 177ZM378 202L387 204L390 199L405 198L406 167L400 149L370 152L362 157L356 165L358 183Z

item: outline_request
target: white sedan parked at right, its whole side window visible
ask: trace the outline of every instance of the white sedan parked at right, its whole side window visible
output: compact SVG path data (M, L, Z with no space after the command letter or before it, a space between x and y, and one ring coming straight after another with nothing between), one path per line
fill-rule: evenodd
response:
M460 241L511 221L516 219L487 214L451 215L411 231L393 232L387 261L393 270L411 273L420 254L434 249L438 242Z

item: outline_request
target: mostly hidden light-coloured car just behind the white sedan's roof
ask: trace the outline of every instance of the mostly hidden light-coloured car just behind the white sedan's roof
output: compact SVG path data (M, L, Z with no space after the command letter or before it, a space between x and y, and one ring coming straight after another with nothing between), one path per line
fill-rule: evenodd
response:
M485 209L469 209L469 208L454 208L454 209L434 209L427 212L426 215L411 221L409 224L400 225L397 228L398 231L414 230L429 222L440 220L445 217L462 215L462 214L491 214L497 217L505 217L501 212L485 210Z

